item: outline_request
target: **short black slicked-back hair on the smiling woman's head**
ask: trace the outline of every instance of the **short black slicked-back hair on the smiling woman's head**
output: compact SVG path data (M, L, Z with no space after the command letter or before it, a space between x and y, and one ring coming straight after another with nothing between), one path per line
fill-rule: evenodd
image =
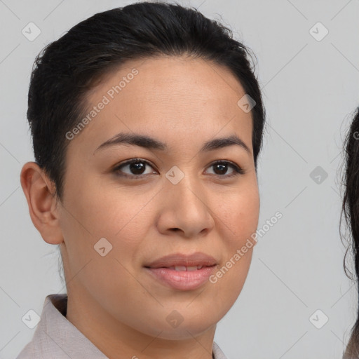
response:
M161 55L201 57L231 70L256 102L252 147L257 170L265 110L248 48L233 39L230 29L195 8L139 2L79 22L36 57L27 118L35 161L55 184L57 199L62 199L66 170L65 134L83 118L88 90L128 60Z

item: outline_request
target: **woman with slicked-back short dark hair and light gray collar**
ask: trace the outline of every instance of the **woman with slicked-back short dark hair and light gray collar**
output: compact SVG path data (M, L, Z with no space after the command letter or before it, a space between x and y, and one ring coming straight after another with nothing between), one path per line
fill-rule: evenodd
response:
M222 25L148 2L97 13L36 58L36 162L20 177L67 294L46 297L18 358L225 358L215 329L259 218L253 71Z

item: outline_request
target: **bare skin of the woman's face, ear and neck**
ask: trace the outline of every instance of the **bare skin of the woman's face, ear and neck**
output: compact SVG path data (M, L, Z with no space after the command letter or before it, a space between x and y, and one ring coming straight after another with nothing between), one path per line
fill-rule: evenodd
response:
M34 162L21 172L29 213L46 243L60 245L67 280L67 319L109 358L212 358L216 324L241 293L253 247L217 283L180 291L149 276L144 264L173 252L205 252L221 268L257 229L259 191L252 155L252 118L245 94L225 67L185 57L131 60L88 93L88 109L138 70L121 93L70 141L62 202ZM95 152L119 132L149 135L167 151L120 144ZM204 142L236 134L248 146L201 153ZM126 166L150 163L140 179ZM215 161L245 174L228 177ZM165 174L176 165L184 178ZM217 171L217 172L216 172ZM217 173L217 176L216 176ZM222 177L221 177L222 176ZM104 257L94 245L107 238ZM166 317L183 318L171 327Z

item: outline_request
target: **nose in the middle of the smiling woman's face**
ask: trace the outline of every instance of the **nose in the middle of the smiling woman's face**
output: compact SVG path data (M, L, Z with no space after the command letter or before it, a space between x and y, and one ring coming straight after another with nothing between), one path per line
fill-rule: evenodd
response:
M177 184L166 180L164 186L157 222L161 233L194 238L212 230L215 221L208 204L209 191L199 179L184 175Z

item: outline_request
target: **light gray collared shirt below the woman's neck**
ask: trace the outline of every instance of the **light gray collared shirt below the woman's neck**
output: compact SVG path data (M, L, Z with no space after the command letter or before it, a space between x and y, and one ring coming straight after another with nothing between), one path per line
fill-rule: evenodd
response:
M67 294L46 297L34 337L16 359L109 359L66 318ZM226 359L213 342L213 359Z

